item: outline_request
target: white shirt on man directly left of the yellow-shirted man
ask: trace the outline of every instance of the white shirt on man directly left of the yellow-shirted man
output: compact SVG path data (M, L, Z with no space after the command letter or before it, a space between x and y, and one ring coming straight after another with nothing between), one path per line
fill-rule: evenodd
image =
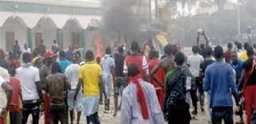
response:
M76 86L79 81L79 70L80 65L78 64L71 64L65 70L65 75L68 78L68 82L71 85L71 89L76 89Z

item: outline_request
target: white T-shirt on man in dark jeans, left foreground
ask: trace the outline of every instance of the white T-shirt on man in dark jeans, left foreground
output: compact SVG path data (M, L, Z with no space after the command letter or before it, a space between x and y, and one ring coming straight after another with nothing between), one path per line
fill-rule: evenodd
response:
M21 81L21 94L23 100L38 100L36 83L40 81L39 70L33 66L21 66L17 69L17 77Z

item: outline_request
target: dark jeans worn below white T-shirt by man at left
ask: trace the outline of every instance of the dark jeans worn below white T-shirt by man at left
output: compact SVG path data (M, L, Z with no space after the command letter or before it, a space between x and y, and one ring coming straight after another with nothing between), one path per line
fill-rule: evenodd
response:
M38 124L39 122L39 104L38 103L24 103L23 102L22 111L22 124L26 124L29 118L29 115L32 114L33 124Z

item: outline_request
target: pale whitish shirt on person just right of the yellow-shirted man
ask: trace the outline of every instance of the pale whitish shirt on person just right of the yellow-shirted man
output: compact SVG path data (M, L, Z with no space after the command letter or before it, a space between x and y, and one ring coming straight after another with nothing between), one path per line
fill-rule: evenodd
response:
M105 54L100 61L100 65L103 67L103 75L111 76L111 66L114 66L114 58L109 54Z

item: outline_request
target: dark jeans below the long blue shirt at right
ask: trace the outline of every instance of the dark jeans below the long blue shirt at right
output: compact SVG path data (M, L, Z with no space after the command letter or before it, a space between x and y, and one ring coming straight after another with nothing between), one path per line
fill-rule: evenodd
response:
M212 124L221 124L222 120L224 120L225 124L233 123L232 107L212 107L212 112L211 112Z

